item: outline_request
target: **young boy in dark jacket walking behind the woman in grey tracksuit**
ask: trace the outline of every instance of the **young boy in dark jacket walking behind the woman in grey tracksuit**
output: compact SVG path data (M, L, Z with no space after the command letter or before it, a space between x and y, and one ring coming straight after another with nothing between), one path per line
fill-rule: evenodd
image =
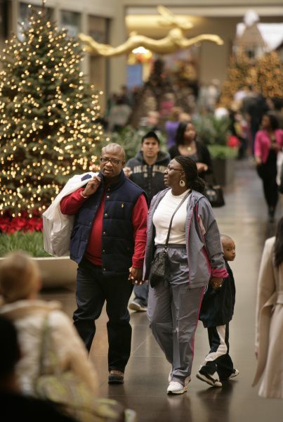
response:
M199 312L199 319L208 331L210 350L197 378L213 387L222 387L222 381L239 374L229 354L229 321L234 313L235 281L228 261L235 260L235 242L229 236L221 235L221 243L229 275L217 286L209 284Z

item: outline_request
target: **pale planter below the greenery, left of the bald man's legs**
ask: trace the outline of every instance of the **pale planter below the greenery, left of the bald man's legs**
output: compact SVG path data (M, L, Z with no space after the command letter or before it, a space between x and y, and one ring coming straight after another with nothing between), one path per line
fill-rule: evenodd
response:
M74 284L77 264L70 257L32 258L39 264L44 288Z

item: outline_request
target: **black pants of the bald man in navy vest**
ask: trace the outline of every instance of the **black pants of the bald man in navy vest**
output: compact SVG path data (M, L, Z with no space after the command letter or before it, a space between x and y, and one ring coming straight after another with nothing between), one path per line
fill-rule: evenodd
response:
M74 326L91 350L96 333L95 320L100 316L106 300L108 334L108 369L124 372L131 354L131 325L128 302L133 285L127 276L103 276L101 267L84 258L77 270L77 310Z

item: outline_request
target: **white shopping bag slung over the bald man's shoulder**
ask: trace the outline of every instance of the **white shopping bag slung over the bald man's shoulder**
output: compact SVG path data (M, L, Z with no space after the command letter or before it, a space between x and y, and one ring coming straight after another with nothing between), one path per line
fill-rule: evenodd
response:
M91 177L81 180L86 174L93 177L98 173L87 172L71 177L64 188L62 188L62 191L53 200L50 207L42 215L44 224L44 250L56 257L69 255L70 237L74 224L74 215L64 215L60 211L60 201L64 196L70 195L70 193L77 191L81 186L87 184Z

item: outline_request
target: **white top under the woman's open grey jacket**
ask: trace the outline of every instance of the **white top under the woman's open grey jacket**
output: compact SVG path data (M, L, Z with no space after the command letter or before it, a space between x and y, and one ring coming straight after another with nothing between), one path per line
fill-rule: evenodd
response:
M169 224L173 213L187 195L190 189L183 192L181 195L172 195L171 189L164 198L160 201L157 209L153 215L153 224L156 235L154 238L155 245L164 245L168 234ZM187 197L187 199L189 196ZM175 245L185 245L185 221L187 217L187 200L180 206L173 217L173 222L170 231L169 243Z

